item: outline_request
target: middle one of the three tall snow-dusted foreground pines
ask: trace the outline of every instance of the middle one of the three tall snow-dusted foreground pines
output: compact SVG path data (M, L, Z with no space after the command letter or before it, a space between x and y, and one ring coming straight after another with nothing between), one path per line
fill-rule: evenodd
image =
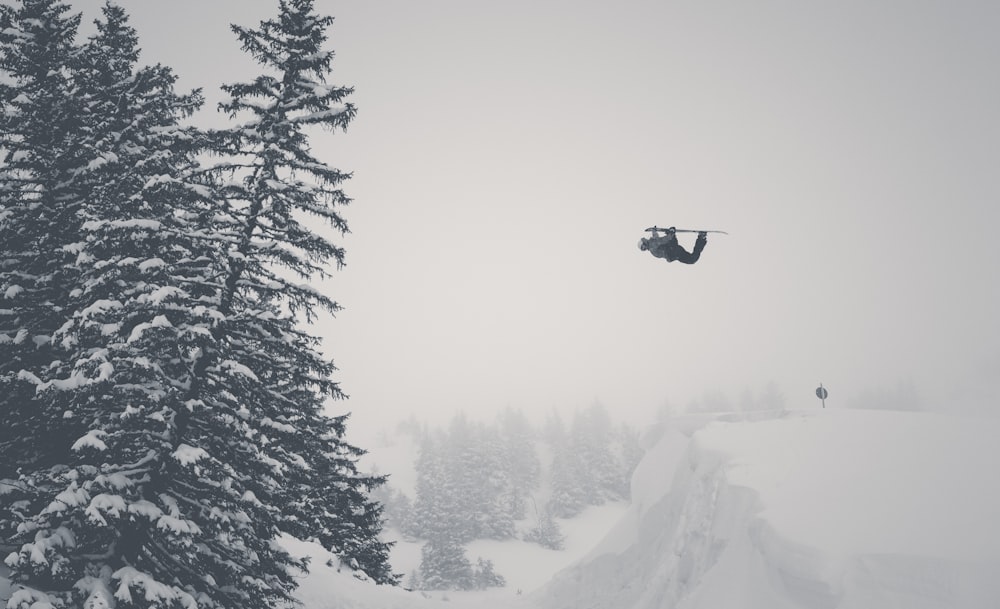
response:
M19 479L47 501L6 561L21 583L9 606L270 607L298 563L241 483L236 417L189 399L221 300L211 200L182 179L198 138L178 121L199 100L165 68L135 70L136 43L106 6L75 74L78 279L54 334L65 358L32 380L55 420L86 432L55 438L59 462Z

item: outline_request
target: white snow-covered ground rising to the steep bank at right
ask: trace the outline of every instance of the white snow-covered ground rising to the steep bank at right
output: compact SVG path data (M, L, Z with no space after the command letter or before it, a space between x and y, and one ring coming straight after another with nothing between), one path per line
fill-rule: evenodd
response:
M647 434L607 537L520 595L374 586L288 543L316 557L308 609L995 609L998 438L995 419L912 412L679 417ZM504 552L469 554L503 573Z

